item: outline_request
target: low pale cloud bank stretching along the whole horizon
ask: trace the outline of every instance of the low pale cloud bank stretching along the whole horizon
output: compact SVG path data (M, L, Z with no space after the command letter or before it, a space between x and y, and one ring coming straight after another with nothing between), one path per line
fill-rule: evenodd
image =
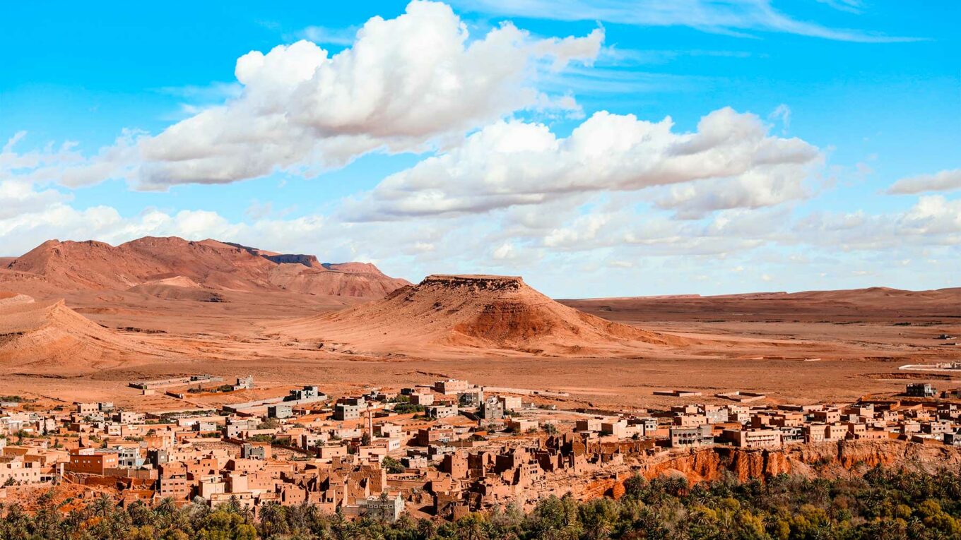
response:
M35 196L22 185L17 193ZM887 214L818 212L799 218L797 209L780 206L726 209L687 221L619 199L600 195L583 204L551 203L545 207L555 214L550 220L496 209L443 220L369 223L324 215L236 222L205 209L124 215L106 206L77 209L52 201L0 216L0 245L3 255L18 255L50 238L117 244L147 234L212 237L333 261L376 261L388 274L411 280L446 272L524 275L567 297L603 295L596 287L620 295L691 292L683 283L705 272L717 282L712 287L727 291L750 286L745 275L764 274L789 274L795 286L814 286L811 280L822 274L837 276L840 286L861 286L865 283L843 279L855 279L852 272L864 269L876 272L871 279L877 283L897 286L900 277L901 283L944 286L939 283L952 279L961 264L956 249L961 201L941 196L922 197L909 209ZM924 276L904 266L907 259L934 258L941 263L928 263ZM591 275L579 274L575 286L573 268ZM621 275L606 276L604 268L617 268ZM670 288L657 288L662 285Z

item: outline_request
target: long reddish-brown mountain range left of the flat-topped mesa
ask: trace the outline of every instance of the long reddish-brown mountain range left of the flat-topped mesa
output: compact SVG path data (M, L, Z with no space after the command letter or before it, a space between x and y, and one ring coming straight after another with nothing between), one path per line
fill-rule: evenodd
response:
M146 236L118 246L49 240L21 257L0 259L0 289L48 293L139 287L169 295L167 289L177 287L381 298L407 284L369 263L321 263L312 255L176 236Z

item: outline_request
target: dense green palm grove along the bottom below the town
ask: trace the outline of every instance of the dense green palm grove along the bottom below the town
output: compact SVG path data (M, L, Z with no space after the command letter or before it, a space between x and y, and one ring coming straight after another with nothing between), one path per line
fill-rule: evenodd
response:
M768 482L739 482L727 477L693 486L677 477L638 477L625 482L618 501L578 503L552 497L527 515L508 506L454 523L407 517L393 525L369 519L348 522L307 504L267 504L255 521L253 512L235 501L214 509L202 501L177 508L171 500L153 509L143 503L121 509L107 498L62 514L49 496L41 498L34 514L16 503L0 507L4 513L0 540L933 540L961 538L961 475L875 469L858 479L779 476Z

